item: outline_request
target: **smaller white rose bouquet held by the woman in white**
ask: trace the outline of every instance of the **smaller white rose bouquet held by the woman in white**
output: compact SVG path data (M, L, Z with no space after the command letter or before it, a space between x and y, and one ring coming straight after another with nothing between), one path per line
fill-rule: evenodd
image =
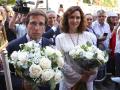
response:
M76 46L69 52L69 55L73 58L78 66L85 70L99 67L108 61L107 52L101 51L99 48L89 42Z

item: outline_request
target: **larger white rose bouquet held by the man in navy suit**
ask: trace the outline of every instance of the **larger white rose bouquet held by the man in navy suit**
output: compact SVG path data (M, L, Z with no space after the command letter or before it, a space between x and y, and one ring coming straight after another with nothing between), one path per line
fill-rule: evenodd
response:
M16 73L35 86L50 83L51 89L62 79L60 68L64 65L62 54L49 46L40 48L35 41L20 45L10 56Z

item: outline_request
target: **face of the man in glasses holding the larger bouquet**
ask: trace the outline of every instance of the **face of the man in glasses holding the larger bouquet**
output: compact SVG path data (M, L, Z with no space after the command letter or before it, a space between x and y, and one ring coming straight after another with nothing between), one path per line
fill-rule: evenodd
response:
M45 31L45 17L41 15L30 16L27 30L32 40L40 39Z

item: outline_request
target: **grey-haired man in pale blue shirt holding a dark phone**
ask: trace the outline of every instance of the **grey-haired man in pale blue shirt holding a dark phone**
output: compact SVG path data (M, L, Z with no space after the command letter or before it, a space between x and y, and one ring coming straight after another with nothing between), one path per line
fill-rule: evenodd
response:
M104 10L98 10L97 20L92 23L92 28L97 35L98 47L101 50L109 49L109 40L111 37L110 26L105 22L105 19L106 12Z

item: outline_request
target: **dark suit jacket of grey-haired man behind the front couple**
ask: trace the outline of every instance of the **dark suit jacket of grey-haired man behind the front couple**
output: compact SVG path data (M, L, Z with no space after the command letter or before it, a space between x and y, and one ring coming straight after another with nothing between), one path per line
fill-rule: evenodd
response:
M53 43L53 45L55 45L55 37L58 34L60 34L60 28L59 27L57 27L57 30L55 32L51 28L50 30L43 33L43 37L48 38L48 39L52 39L51 42Z

